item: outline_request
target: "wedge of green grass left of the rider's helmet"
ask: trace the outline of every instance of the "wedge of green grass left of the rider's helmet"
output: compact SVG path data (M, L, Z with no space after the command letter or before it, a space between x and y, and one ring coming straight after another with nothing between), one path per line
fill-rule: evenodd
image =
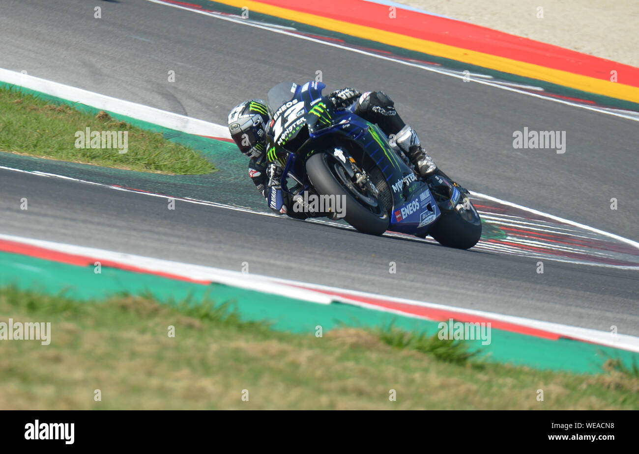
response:
M79 148L86 128L89 136ZM92 144L90 133L96 131L100 138ZM106 141L118 132L127 133L126 147L124 134L118 146ZM0 150L142 172L196 175L215 170L196 150L169 142L160 133L117 121L106 112L92 115L7 88L0 88Z

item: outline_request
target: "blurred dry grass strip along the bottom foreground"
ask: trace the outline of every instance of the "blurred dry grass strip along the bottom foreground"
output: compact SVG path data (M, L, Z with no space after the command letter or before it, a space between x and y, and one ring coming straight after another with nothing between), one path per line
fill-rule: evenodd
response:
M639 378L614 367L588 376L478 363L463 346L396 328L315 337L245 323L224 305L2 288L8 318L50 322L51 341L0 341L1 409L639 409Z

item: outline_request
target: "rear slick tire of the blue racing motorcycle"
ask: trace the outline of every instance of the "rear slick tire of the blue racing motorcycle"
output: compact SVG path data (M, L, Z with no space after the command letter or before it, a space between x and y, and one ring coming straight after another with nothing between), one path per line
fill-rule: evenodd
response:
M463 198L454 210L442 211L428 233L444 246L470 249L481 238L481 219L470 200Z

